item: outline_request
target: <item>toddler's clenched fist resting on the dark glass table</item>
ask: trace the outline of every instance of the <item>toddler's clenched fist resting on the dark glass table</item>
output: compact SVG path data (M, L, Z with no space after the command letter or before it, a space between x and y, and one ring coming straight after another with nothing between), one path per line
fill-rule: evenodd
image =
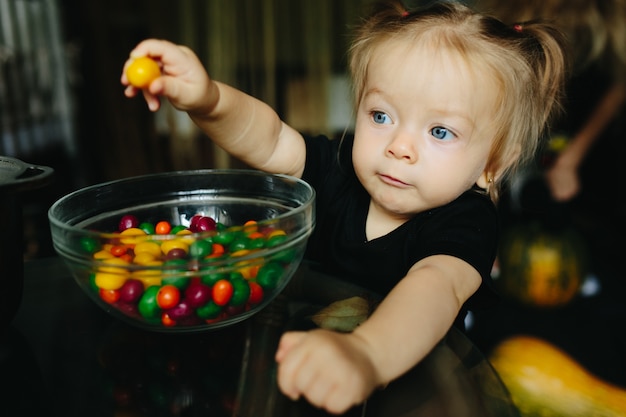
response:
M317 407L342 413L381 384L366 347L354 333L285 333L276 352L278 385L293 400L302 395Z

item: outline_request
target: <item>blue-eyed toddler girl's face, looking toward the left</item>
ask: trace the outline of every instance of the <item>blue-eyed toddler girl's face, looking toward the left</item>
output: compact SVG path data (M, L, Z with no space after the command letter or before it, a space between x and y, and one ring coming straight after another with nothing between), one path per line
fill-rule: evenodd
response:
M372 203L396 218L485 187L496 84L455 53L379 46L359 104L354 167Z

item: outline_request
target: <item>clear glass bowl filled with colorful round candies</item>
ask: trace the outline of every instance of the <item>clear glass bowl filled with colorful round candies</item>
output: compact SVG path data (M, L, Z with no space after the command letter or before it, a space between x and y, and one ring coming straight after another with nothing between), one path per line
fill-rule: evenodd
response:
M144 329L190 332L240 322L280 293L314 199L285 175L178 171L74 191L48 218L54 249L97 305Z

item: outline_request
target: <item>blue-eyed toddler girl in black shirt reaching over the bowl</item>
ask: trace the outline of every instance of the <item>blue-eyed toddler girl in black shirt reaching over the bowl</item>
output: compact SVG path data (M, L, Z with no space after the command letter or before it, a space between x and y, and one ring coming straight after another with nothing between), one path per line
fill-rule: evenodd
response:
M417 364L468 308L493 296L494 201L528 161L558 104L561 37L542 23L506 26L457 2L377 7L350 49L356 123L342 140L305 136L266 104L212 80L184 46L145 40L158 60L143 90L161 97L249 166L317 191L307 257L385 295L350 333L283 335L284 394L341 413ZM139 91L128 85L126 95Z

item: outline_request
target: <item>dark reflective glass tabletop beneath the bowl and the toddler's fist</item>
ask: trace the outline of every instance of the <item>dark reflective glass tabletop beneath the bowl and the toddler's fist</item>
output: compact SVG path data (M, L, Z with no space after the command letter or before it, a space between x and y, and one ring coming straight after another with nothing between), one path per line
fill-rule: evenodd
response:
M12 416L326 416L278 390L274 352L286 329L361 296L359 287L303 263L274 303L231 327L163 334L129 326L89 300L57 258L25 265L20 309L0 343ZM405 376L347 416L517 416L484 356L451 330Z

